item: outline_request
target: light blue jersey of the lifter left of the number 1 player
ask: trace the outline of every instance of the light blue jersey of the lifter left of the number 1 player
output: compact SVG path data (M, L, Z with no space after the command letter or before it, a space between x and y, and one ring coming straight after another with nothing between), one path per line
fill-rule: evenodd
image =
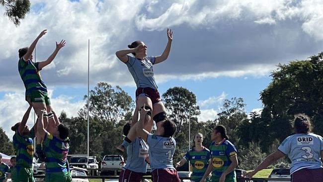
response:
M147 162L145 159L148 157L148 145L142 139L137 137L127 147L127 163L124 168L136 173L147 172Z

